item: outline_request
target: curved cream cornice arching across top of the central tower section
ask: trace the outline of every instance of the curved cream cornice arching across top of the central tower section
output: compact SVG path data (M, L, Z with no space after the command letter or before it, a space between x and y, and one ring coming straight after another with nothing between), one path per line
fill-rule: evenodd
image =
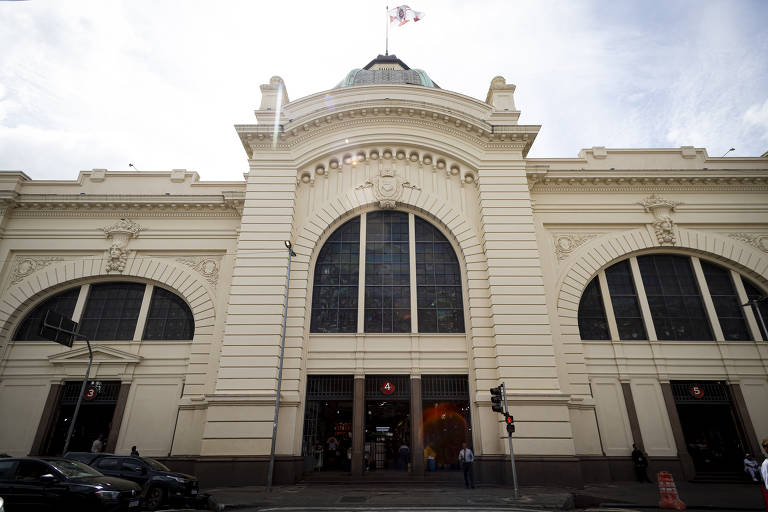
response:
M290 120L279 126L276 142L273 141L274 125L237 125L235 129L249 158L257 152L288 151L318 136L358 126L381 126L382 122L437 131L486 151L517 150L527 154L540 129L537 125L492 125L445 107L409 101L357 102L341 108L344 110L333 113L323 110L300 120Z

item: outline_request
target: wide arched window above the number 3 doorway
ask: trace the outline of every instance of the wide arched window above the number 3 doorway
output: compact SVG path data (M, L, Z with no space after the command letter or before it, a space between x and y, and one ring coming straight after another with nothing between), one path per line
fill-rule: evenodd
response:
M78 302L82 311L76 311ZM39 333L48 310L78 322L80 333L92 341L191 340L195 329L192 311L173 292L143 283L103 282L75 286L41 302L21 321L14 341L44 341Z

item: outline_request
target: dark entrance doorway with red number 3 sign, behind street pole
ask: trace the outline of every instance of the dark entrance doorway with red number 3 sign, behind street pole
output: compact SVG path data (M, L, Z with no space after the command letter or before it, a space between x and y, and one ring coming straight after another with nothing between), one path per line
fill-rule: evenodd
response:
M43 446L43 454L62 454L82 384L82 381L64 383L54 426ZM93 441L99 436L103 436L106 447L109 434L112 431L112 419L115 415L119 393L120 381L90 381L88 383L86 396L83 397L80 405L75 430L72 432L72 439L69 442L69 451L89 452Z

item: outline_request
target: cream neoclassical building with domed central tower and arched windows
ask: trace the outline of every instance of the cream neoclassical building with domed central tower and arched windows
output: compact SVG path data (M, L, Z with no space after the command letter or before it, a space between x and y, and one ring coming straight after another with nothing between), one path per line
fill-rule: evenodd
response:
M72 449L203 485L265 481L284 318L278 483L421 478L462 441L508 482L501 382L522 483L631 478L633 443L740 472L768 436L768 153L528 158L514 92L380 55L294 101L262 85L243 181L1 172L0 452L63 448L88 351L40 337L54 310L94 350Z

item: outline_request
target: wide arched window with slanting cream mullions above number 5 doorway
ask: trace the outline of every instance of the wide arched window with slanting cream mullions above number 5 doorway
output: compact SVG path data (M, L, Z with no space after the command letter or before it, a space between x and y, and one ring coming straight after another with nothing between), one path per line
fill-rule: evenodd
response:
M579 303L579 333L583 340L766 339L758 311L743 306L760 293L738 273L697 257L632 257L587 285Z

